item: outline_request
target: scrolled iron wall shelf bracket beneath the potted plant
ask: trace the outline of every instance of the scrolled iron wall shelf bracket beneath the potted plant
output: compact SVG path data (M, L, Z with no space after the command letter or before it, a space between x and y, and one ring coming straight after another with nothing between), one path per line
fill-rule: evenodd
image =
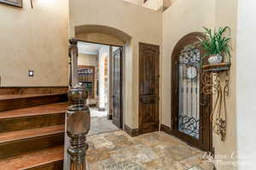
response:
M212 121L212 131L220 135L224 141L227 126L227 106L226 98L230 95L230 62L203 65L201 82L203 83L202 92L204 94L216 94L210 119ZM220 81L220 74L225 72L226 77L224 86ZM224 105L224 112L222 106Z

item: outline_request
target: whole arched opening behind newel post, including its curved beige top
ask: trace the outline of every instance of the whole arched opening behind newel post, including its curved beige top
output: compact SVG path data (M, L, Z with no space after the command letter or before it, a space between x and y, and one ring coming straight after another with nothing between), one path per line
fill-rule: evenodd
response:
M108 26L77 26L75 37L79 41L79 67L92 67L94 71L93 80L85 78L80 82L84 86L89 83L87 88L92 94L87 100L91 111L89 135L123 129L125 78L122 73L125 44L130 37ZM91 55L94 64L88 63Z

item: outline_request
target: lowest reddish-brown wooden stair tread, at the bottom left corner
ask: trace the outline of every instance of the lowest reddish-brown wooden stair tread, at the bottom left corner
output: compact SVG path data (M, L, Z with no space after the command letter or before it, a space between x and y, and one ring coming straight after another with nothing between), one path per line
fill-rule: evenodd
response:
M56 146L44 150L24 153L20 156L10 157L0 161L0 169L17 170L38 167L55 161L62 161L64 146Z

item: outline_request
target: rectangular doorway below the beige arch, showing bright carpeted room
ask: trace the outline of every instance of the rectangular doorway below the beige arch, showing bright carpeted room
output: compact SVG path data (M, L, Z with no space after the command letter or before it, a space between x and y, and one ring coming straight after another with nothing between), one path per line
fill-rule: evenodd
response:
M79 41L78 48L79 84L89 94L88 135L117 131L123 127L120 111L122 47Z

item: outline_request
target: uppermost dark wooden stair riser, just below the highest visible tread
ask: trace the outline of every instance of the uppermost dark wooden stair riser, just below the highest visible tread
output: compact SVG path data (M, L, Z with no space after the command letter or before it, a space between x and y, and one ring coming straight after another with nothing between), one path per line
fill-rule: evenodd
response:
M51 103L67 101L67 94L55 94L49 96L37 96L18 99L1 99L0 111L10 111L23 109L37 105L47 105ZM0 113L1 114L1 113Z

